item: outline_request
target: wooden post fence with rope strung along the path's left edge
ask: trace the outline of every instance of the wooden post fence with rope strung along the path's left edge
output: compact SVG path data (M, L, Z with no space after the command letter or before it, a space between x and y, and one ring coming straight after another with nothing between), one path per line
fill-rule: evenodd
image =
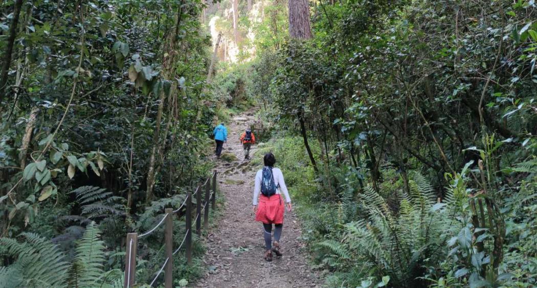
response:
M138 240L144 236L148 236L156 231L156 229L164 225L164 242L165 242L165 257L166 260L162 264L162 267L158 270L155 275L155 278L150 286L153 286L157 281L158 277L164 272L164 286L166 288L172 287L173 277L173 255L176 255L182 248L185 248L185 256L187 264L192 264L192 231L193 225L195 225L195 231L199 236L201 236L201 215L204 215L204 228L208 229L208 216L209 216L209 207L214 209L215 200L216 200L216 178L217 171L214 170L213 174L207 177L203 185L199 185L194 193L187 193L183 203L176 209L166 208L164 211L164 216L158 222L156 226L151 228L149 231L138 235L137 233L128 233L127 234L127 251L125 255L125 288L132 287L136 284L136 254L138 247ZM205 189L204 199L202 200L202 189ZM195 203L193 197L195 196ZM211 203L212 205L208 205ZM195 207L193 207L195 205ZM193 211L195 209L195 211ZM184 211L184 212L181 212ZM179 217L185 216L185 235L183 236L183 241L179 244L179 247L173 250L173 218L172 216L176 213L179 213ZM192 219L195 214L194 222Z

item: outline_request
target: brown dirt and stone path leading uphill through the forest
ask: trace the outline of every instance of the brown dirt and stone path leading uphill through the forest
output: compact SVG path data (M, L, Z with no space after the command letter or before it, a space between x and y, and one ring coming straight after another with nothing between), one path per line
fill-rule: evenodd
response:
M243 150L238 141L243 129L252 123L253 113L244 112L228 124L228 142L224 144L223 152L233 153L240 160L219 162L218 169L222 173L219 184L226 203L223 216L208 237L204 260L207 275L196 287L320 287L322 280L306 261L304 244L299 239L299 220L294 212L285 215L280 240L284 256L272 262L263 258L263 228L253 220L252 214L256 171L242 171L248 166L242 163ZM259 156L254 154L254 157ZM235 171L234 167L240 168L235 174L223 174L224 171Z

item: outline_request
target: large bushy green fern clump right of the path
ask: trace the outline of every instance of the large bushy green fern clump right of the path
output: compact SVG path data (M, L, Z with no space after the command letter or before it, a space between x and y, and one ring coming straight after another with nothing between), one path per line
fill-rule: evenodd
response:
M367 218L346 225L341 243L325 242L339 260L363 257L372 268L372 276L390 276L400 287L425 286L418 277L424 267L444 260L444 235L448 209L436 204L431 185L417 173L410 175L410 195L398 192L397 211L392 211L371 186L359 195Z

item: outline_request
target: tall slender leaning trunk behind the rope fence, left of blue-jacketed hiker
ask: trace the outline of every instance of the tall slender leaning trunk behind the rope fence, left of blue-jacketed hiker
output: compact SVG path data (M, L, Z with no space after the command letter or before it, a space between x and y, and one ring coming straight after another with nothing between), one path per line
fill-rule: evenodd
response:
M173 30L168 35L168 40L166 41L166 47L164 48L164 59L163 59L163 73L162 76L166 80L173 81L175 79L175 73L174 73L174 64L175 64L175 55L177 54L177 34L179 33L179 23L181 20L181 14L183 12L182 9L182 3L179 5L177 15L175 17L175 23L176 26L173 27ZM173 87L175 85L171 85L170 89L170 95L173 95ZM157 111L157 119L155 120L155 132L153 134L153 148L151 148L151 156L149 157L149 169L147 171L147 190L146 190L146 201L149 202L151 199L153 199L153 188L155 186L155 163L157 159L157 153L159 148L159 142L160 142L160 134L161 134L161 121L162 121L162 114L164 109L164 102L166 100L166 93L164 92L164 89L162 89L161 95L159 97L159 104L158 104L158 111Z

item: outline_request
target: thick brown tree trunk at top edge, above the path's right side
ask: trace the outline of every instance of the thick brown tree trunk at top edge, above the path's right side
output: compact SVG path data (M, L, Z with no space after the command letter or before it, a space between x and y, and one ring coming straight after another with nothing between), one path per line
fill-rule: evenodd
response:
M289 35L294 39L310 39L308 0L289 0Z

